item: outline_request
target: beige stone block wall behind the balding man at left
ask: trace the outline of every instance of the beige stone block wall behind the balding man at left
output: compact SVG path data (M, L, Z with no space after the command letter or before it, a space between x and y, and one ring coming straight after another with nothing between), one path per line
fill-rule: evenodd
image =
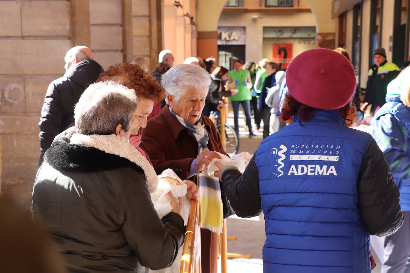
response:
M0 0L0 194L31 208L37 124L66 52L85 45L105 69L138 55L153 67L162 50L157 9L160 0Z

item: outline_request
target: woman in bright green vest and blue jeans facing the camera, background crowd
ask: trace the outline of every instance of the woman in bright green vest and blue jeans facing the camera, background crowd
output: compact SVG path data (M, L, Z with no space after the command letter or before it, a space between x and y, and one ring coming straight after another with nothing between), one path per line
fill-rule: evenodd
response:
M252 131L251 121L251 90L252 80L249 74L249 70L242 69L243 62L239 59L233 61L234 70L229 71L228 74L228 87L231 87L235 83L235 89L238 89L238 93L229 97L232 103L233 116L235 123L235 131L239 134L239 104L242 104L246 117L246 125L249 129L249 137L255 136Z

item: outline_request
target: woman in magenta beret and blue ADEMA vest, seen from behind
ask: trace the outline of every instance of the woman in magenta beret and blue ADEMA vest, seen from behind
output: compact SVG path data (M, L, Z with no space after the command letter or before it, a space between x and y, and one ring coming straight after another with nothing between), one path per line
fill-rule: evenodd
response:
M370 273L369 235L391 235L403 214L376 141L347 127L353 66L317 48L296 56L285 77L282 120L292 123L261 142L243 174L224 167L223 192L239 217L263 211L264 272Z

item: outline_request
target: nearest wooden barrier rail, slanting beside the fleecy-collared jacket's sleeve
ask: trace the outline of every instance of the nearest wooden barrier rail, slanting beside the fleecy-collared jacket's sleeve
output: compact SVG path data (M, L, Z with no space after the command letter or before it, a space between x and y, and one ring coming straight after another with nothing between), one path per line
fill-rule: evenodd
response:
M185 232L184 248L182 250L180 273L191 273L192 267L195 268L198 266L195 261L195 227L198 223L198 212L198 202L191 200L189 205L187 230Z

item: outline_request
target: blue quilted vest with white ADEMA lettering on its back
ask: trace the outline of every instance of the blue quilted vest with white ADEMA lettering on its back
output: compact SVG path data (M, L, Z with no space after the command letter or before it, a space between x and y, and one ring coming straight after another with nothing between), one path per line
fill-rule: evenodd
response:
M264 272L369 273L357 181L372 137L335 110L302 124L295 116L257 150Z

